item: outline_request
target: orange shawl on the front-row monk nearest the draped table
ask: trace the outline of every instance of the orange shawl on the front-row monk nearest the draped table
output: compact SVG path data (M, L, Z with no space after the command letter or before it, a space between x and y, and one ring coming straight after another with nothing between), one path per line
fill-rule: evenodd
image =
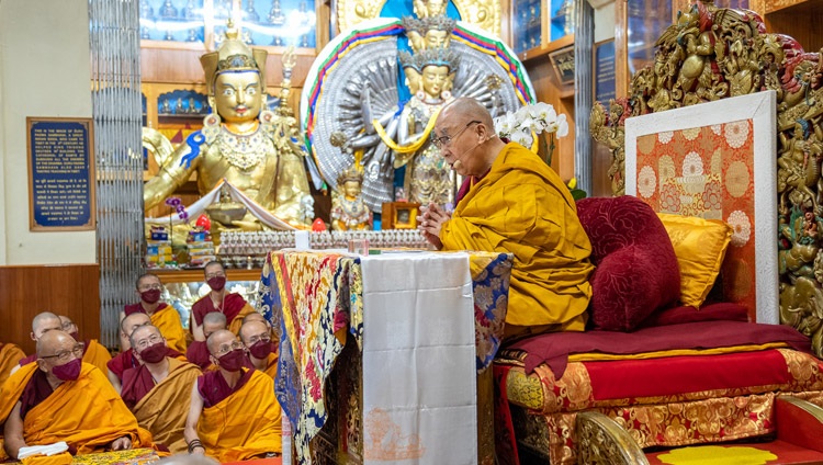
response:
M274 381L255 370L249 381L215 406L204 407L198 436L221 463L281 452L280 405Z

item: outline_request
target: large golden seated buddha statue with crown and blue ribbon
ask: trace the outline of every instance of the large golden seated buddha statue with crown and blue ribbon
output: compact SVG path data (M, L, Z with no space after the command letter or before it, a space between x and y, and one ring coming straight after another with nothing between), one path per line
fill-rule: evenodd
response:
M144 188L146 209L196 172L201 195L225 179L274 217L298 228L311 224L305 151L288 109L294 59L284 55L281 107L271 112L263 110L266 57L266 50L244 44L230 22L219 49L201 57L212 113L203 120L203 129L190 135L172 154L158 157L165 162ZM224 226L259 230L264 224L247 213L241 220Z

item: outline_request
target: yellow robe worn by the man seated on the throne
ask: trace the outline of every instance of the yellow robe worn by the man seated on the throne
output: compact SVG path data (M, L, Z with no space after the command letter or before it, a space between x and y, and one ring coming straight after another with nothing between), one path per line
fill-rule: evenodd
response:
M585 329L591 243L568 188L530 150L506 145L440 240L443 250L514 253L506 324Z

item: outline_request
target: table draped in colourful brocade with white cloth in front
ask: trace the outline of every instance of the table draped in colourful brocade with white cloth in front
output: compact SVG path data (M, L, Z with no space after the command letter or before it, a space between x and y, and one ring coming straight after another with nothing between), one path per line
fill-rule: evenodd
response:
M260 299L280 331L275 390L294 462L493 463L486 368L511 263L486 252L271 252Z

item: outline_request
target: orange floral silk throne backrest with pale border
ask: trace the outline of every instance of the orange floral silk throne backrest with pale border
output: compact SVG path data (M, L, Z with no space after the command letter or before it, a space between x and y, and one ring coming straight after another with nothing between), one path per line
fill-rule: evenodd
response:
M625 193L658 213L733 228L724 300L778 324L775 92L625 120Z

